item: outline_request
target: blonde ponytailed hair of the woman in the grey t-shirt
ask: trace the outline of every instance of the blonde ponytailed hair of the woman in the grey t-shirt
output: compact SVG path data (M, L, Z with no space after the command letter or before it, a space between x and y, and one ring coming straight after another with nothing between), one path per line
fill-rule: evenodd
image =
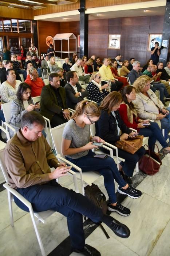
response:
M96 103L89 102L89 101L80 101L75 109L72 118L81 116L82 114L86 114L89 117L99 117L100 116L100 109L96 105Z

